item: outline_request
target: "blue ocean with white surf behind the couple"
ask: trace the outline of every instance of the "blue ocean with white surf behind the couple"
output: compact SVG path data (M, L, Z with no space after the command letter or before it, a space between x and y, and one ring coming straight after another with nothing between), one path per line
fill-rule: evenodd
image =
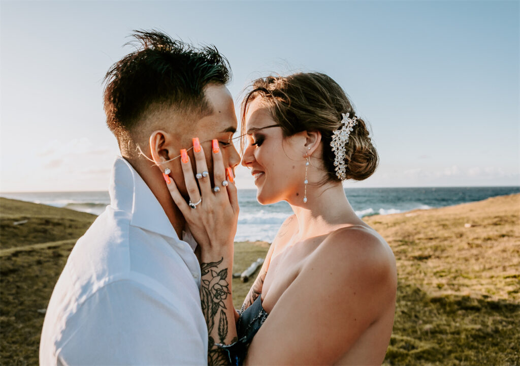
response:
M520 193L520 186L345 189L345 194L359 217L414 209L427 210L513 193ZM108 192L0 193L0 196L97 215L110 204ZM258 204L256 190L239 190L238 198L240 214L236 241L272 242L280 225L292 214L289 204L285 202L267 206Z

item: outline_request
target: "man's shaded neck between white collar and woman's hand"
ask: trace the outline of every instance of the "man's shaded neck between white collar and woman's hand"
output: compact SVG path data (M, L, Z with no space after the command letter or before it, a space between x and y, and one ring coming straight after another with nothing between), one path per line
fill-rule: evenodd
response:
M164 183L163 176L157 167L151 167L150 164L142 164L140 161L125 158L132 167L141 176L142 180L145 181L146 185L150 188L153 195L159 201L159 204L166 213L168 220L170 220L173 229L177 233L180 239L183 238L183 230L185 229L186 220L183 214L180 212L177 205L175 205L168 187Z

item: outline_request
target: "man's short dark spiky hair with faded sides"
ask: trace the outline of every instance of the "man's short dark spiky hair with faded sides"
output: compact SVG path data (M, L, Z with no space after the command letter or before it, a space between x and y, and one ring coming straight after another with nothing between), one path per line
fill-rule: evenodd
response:
M159 31L134 31L136 50L105 75L108 128L126 145L151 106L174 106L197 116L213 111L204 98L209 83L227 84L228 60L213 45L194 47ZM123 141L122 141L123 140Z

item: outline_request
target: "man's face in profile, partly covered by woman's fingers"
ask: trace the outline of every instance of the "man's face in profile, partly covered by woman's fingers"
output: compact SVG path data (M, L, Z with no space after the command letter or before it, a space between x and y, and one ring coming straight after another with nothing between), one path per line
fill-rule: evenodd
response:
M192 147L192 138L198 137L204 149L208 171L213 182L213 158L211 153L213 139L219 141L224 168L230 167L234 173L235 167L240 162L240 156L231 140L233 134L237 131L237 116L235 115L233 99L226 86L217 84L207 85L204 89L204 95L208 104L213 108L213 113L195 122L178 123L175 133L172 133L176 140L174 146L178 148L173 152L169 152L168 155L170 155L171 159L180 155L180 149L187 149L193 172L196 173L193 149L190 148ZM172 170L170 175L173 176L180 193L187 196L180 158L168 163L167 167Z

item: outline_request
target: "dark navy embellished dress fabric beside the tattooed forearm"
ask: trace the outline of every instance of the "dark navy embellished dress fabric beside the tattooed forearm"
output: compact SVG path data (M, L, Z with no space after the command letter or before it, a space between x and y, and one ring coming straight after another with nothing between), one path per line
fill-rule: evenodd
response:
M241 365L244 363L253 337L267 319L268 314L262 307L261 297L258 296L253 304L240 315L237 322L237 342L219 346L227 354L230 365Z

